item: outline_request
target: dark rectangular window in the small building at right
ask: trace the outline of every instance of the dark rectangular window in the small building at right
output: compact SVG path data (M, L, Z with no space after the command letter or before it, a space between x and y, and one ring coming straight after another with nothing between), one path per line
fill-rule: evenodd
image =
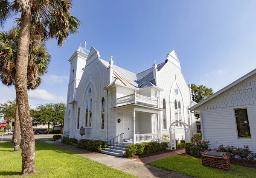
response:
M236 109L235 116L238 138L251 138L247 109Z

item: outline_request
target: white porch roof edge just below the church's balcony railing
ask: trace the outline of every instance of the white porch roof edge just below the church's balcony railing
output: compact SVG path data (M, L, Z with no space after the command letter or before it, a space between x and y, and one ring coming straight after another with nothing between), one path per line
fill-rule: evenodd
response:
M163 110L162 108L159 108L159 107L151 107L151 106L145 106L145 105L140 105L135 103L111 108L111 110L127 110L127 109L134 109L134 110L149 112L149 113L158 113L159 111Z

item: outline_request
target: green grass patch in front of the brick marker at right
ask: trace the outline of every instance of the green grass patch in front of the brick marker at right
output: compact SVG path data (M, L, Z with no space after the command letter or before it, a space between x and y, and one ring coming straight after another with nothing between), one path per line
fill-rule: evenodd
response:
M201 159L176 155L147 163L198 178L256 178L256 169L231 164L230 171L204 167Z

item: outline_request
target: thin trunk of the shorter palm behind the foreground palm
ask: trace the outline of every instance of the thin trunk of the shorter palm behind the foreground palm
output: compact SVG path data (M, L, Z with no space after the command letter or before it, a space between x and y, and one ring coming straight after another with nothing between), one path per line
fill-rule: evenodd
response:
M20 150L20 118L19 118L17 104L15 108L15 124L14 124L14 132L13 132L13 141L14 141L14 150L19 151Z

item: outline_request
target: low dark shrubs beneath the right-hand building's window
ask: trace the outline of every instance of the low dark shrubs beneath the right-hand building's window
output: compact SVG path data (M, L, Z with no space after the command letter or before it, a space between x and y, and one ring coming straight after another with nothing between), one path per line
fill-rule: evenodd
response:
M230 154L230 158L235 158L237 156L241 159L247 159L247 160L254 160L256 158L256 153L253 153L251 150L249 150L249 146L246 145L243 148L236 148L234 146L224 147L223 144L221 144L218 149L215 149L218 152L225 152Z

